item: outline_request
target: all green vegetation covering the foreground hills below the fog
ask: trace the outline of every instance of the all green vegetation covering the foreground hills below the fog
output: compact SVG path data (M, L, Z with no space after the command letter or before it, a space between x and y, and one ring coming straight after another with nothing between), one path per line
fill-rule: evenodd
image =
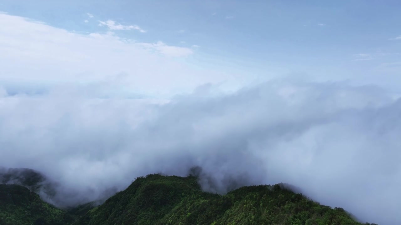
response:
M105 203L62 211L18 185L0 185L1 225L362 225L283 185L241 187L218 195L196 177L148 175ZM365 225L370 225L366 223ZM374 224L372 224L374 225Z

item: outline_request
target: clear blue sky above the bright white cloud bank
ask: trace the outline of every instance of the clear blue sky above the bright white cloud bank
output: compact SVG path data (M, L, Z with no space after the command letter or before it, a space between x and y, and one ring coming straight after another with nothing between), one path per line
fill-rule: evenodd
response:
M113 31L119 38L189 48L192 54L175 60L192 69L226 73L222 80L230 80L230 73L247 82L292 76L396 90L400 7L398 1L363 0L18 0L1 1L0 11L78 34ZM146 32L99 26L107 20Z

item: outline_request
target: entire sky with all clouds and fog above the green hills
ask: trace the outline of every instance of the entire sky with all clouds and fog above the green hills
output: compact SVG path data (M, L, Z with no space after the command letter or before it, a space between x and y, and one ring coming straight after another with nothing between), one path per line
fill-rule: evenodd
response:
M0 165L64 205L201 166L400 224L400 7L0 0Z

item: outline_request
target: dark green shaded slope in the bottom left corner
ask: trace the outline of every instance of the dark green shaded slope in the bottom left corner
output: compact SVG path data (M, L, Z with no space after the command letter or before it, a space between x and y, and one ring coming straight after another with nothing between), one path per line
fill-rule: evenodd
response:
M1 225L67 225L74 217L20 185L0 184Z

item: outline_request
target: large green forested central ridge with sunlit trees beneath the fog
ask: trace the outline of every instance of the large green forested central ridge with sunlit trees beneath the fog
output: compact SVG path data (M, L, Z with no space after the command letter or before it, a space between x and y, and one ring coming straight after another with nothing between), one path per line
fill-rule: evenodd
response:
M148 175L88 211L74 225L360 225L341 208L310 201L282 185L205 193L196 177ZM367 223L368 224L368 223Z

